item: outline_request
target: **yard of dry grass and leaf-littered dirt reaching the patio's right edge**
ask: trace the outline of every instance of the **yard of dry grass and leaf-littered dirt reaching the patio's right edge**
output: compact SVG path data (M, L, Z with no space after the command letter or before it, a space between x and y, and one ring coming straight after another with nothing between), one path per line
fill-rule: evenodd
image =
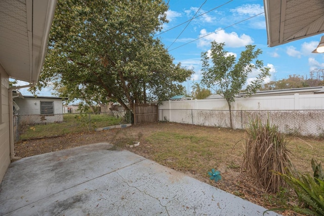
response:
M286 189L269 194L255 186L242 167L244 130L178 123L159 125L154 129L145 125L130 127L120 132L115 144L123 146L130 139L141 141L139 147L130 151L266 208L287 207L289 203L297 203L297 198L287 195ZM291 161L300 172L312 175L312 158L324 162L323 140L292 136L286 136L286 139L289 142ZM220 182L209 180L208 171L212 168L221 171Z

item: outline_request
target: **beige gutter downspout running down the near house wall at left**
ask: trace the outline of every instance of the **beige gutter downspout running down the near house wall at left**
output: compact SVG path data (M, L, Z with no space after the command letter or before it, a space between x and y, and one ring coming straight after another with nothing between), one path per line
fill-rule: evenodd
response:
M19 160L21 159L20 157L15 156L14 152L14 122L13 122L13 96L12 96L12 91L17 90L17 89L23 89L23 88L28 88L28 87L33 87L36 83L30 83L28 85L22 85L20 87L11 87L8 89L9 92L9 143L10 143L10 159L11 160Z

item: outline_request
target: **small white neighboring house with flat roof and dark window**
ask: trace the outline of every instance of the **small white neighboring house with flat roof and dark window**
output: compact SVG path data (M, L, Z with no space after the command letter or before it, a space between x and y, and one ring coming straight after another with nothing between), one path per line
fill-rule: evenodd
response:
M14 98L19 107L15 114L25 123L53 123L63 121L63 102L65 98L23 96Z

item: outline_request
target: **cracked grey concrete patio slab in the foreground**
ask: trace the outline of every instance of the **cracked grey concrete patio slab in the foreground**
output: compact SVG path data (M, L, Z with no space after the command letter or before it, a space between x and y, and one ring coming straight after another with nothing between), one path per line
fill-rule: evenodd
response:
M15 161L0 186L0 215L262 215L264 210L108 143Z

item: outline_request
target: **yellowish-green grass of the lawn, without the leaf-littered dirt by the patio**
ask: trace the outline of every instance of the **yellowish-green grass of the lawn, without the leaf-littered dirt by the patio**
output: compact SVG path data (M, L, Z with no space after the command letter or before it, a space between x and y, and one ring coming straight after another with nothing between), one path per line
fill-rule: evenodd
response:
M245 150L245 131L199 125L160 123L162 129L146 135L132 133L135 126L125 131L117 145L126 140L138 141L144 145L136 151L147 154L151 159L179 170L201 170L205 174L211 168L228 169L239 167ZM164 128L166 127L167 128ZM137 129L135 129L137 131ZM151 131L151 130L150 130ZM286 136L290 158L302 172L310 172L311 158L324 162L323 140ZM129 142L129 141L128 141Z

